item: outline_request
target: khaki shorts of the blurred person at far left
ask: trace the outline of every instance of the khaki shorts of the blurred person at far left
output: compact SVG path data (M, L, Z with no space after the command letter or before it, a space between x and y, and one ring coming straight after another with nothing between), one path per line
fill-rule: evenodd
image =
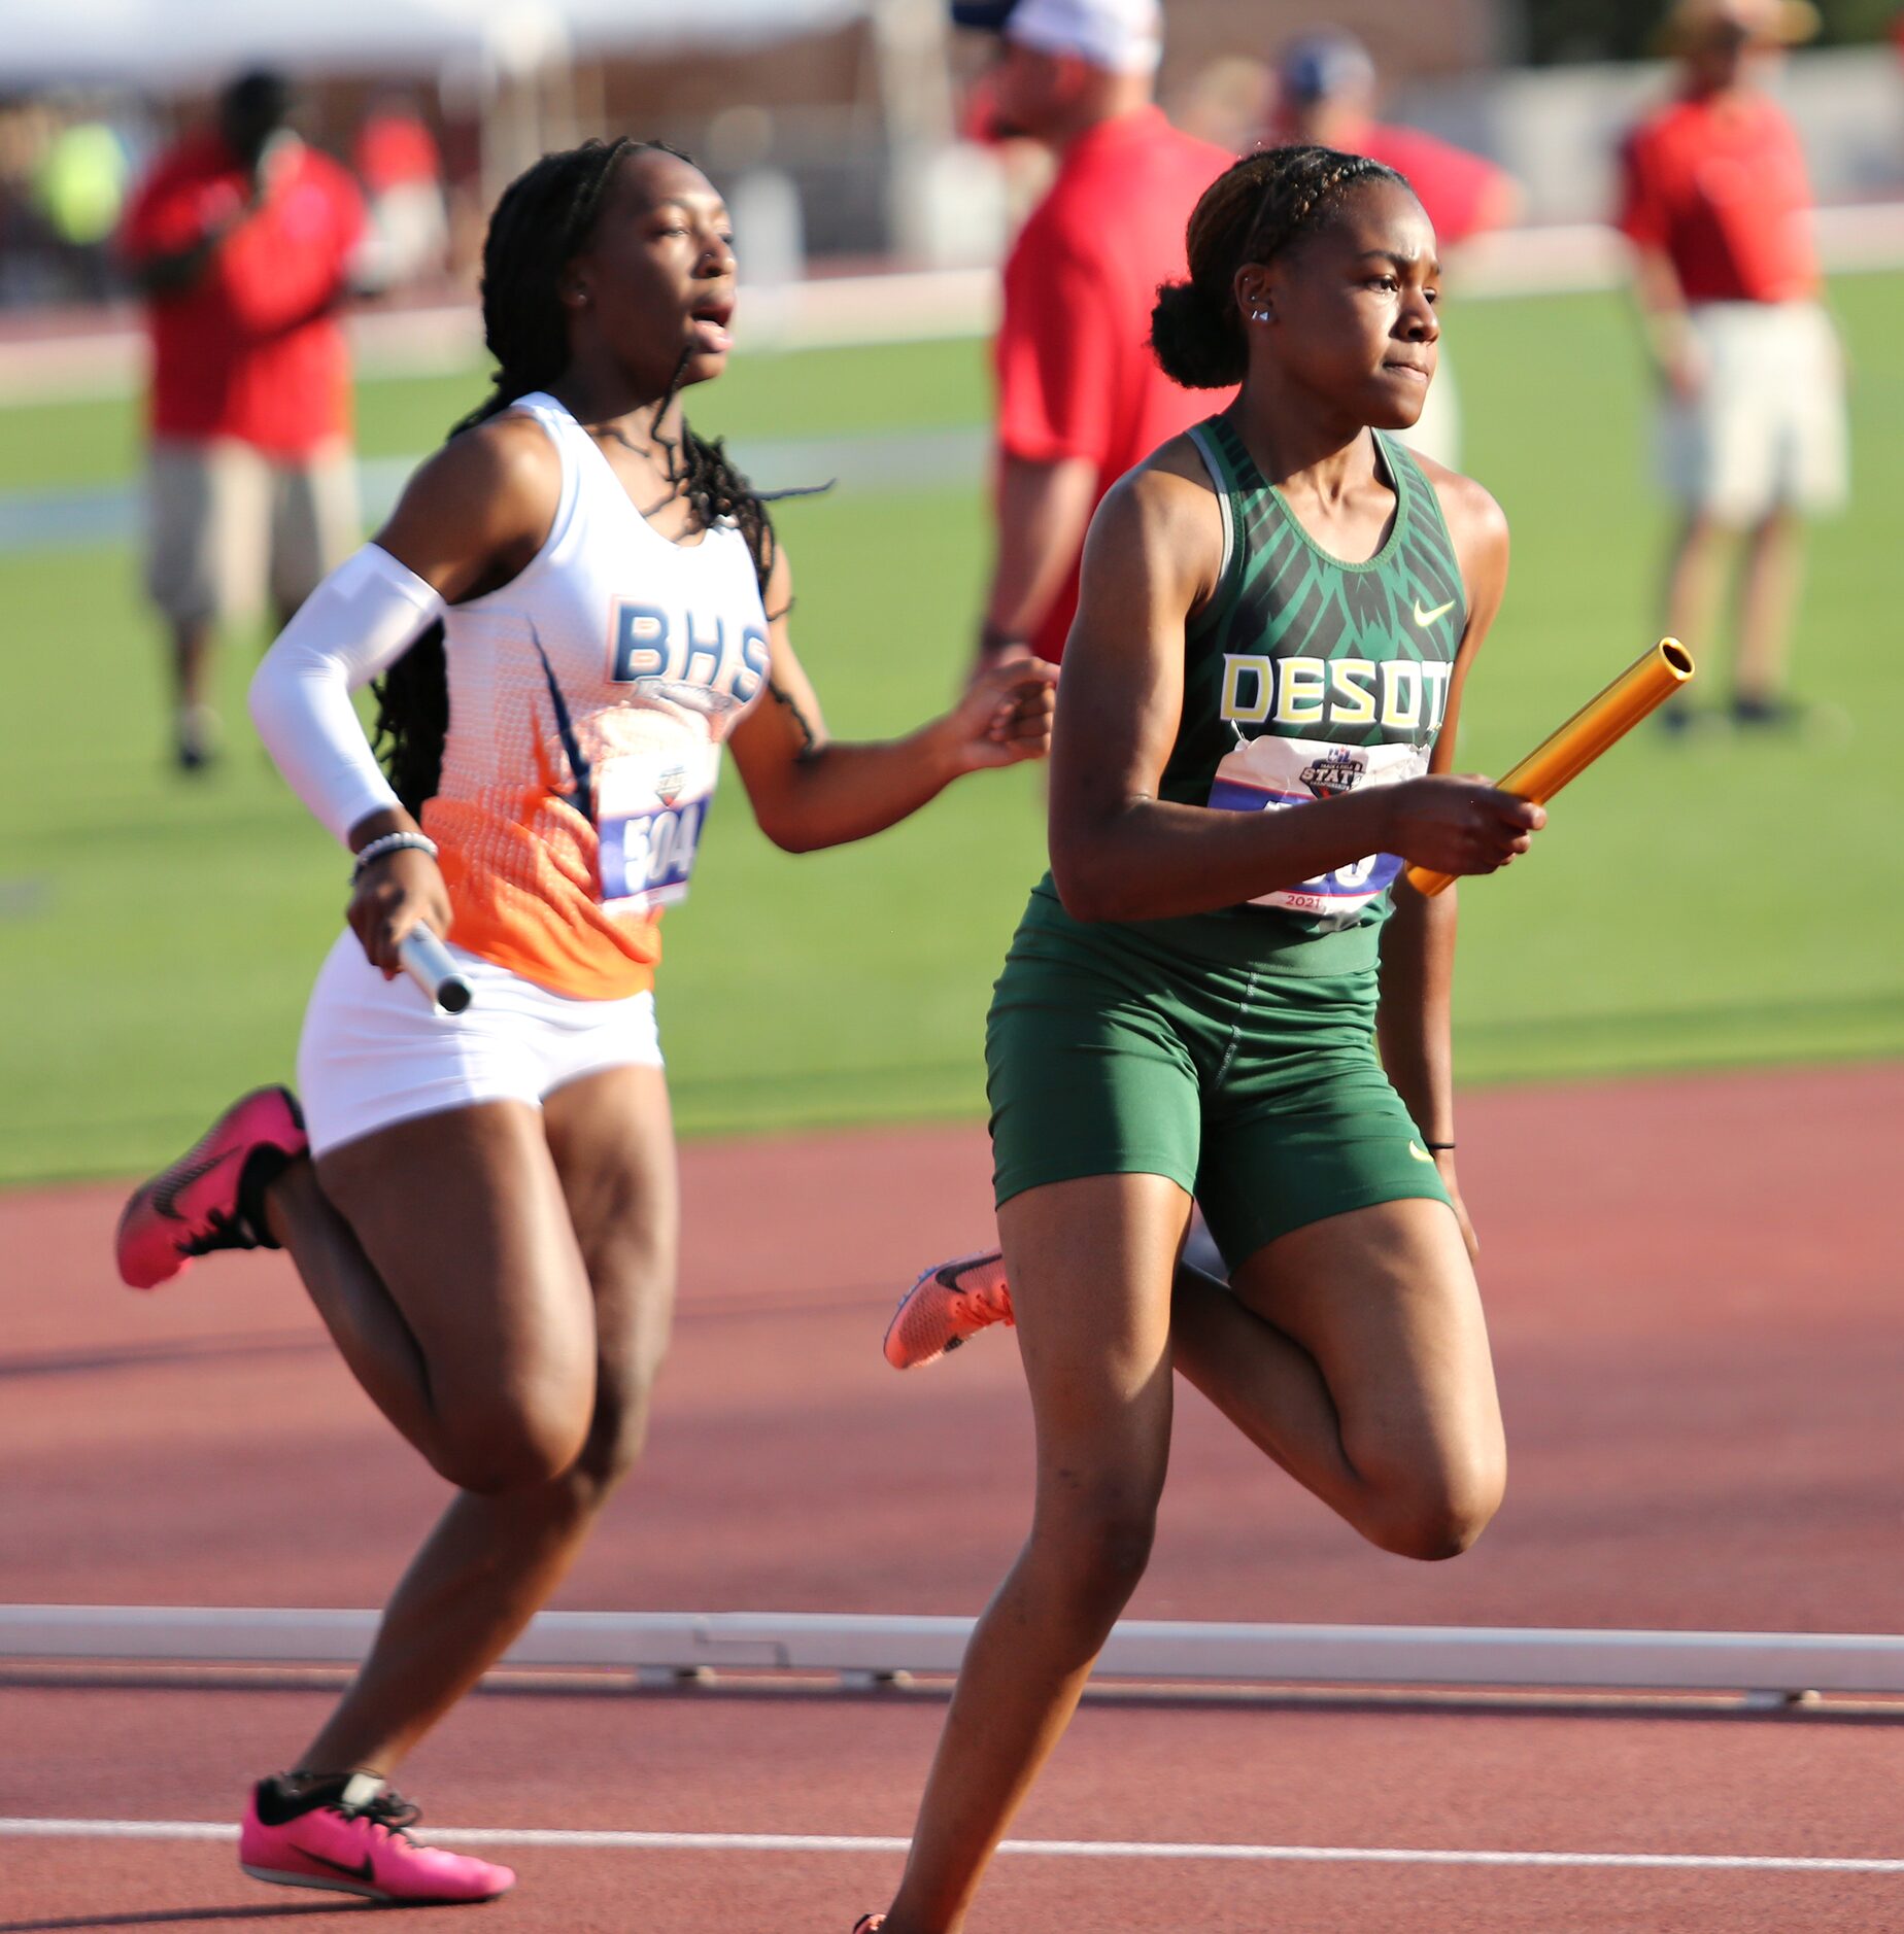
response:
M174 625L294 611L364 540L339 439L302 462L221 437L153 445L145 588Z

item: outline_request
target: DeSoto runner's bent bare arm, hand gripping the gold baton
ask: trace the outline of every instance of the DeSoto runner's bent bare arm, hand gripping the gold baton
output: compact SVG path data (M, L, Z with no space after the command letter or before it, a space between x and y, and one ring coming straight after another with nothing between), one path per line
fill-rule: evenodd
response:
M1221 563L1221 513L1188 439L1116 484L1091 522L1051 772L1051 870L1066 909L1084 921L1207 913L1413 847L1459 855L1443 872L1502 864L1523 808L1465 781L1416 779L1300 812L1157 797L1182 716L1184 625Z

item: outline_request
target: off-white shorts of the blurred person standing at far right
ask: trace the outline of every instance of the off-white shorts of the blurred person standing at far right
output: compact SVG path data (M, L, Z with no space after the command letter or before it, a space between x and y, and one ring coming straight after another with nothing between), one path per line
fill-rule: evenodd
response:
M1689 511L1757 524L1836 511L1846 491L1844 364L1815 302L1701 302L1697 396L1660 412L1660 480Z

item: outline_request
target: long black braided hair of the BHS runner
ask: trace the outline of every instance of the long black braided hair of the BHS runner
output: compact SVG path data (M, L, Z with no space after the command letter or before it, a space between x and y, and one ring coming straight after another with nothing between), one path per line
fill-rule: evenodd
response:
M490 395L461 418L451 437L486 424L532 391L561 381L569 366L569 327L557 296L561 271L588 246L602 199L629 155L691 157L666 141L584 141L544 155L503 190L482 246L482 331L495 375ZM687 422L679 441L660 435L662 418L681 383L687 354L654 410L654 441L666 454L668 480L687 501L695 522L708 530L733 522L753 553L766 590L774 567L774 526L766 505L728 460L720 439L697 437ZM443 625L431 625L377 681L375 745L397 797L422 812L435 795L449 729L449 675Z

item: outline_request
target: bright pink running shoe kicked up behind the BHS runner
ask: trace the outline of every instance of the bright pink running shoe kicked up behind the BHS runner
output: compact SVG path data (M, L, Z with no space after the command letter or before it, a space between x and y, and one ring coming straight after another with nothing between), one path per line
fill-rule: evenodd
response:
M275 1249L259 1191L310 1141L288 1089L253 1089L168 1168L134 1189L120 1213L120 1276L155 1290L193 1255L211 1249Z

